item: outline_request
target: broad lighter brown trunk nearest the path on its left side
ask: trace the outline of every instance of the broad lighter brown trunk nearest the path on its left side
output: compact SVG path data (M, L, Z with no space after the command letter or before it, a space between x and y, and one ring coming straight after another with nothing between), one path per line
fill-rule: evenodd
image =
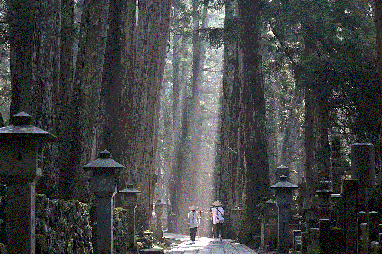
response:
M134 125L130 136L128 169L133 184L144 193L136 217L149 228L154 190L154 161L159 128L160 90L168 47L171 0L139 1L136 75L134 77ZM141 219L139 219L141 216Z

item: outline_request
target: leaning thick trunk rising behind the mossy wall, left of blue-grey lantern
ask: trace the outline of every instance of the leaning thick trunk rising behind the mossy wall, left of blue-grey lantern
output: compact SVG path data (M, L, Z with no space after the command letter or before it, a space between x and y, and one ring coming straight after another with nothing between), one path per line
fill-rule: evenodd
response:
M90 3L89 3L90 2ZM108 0L84 0L73 94L66 121L60 158L60 195L84 200L87 172L94 138L93 127L99 107L102 70L107 37Z

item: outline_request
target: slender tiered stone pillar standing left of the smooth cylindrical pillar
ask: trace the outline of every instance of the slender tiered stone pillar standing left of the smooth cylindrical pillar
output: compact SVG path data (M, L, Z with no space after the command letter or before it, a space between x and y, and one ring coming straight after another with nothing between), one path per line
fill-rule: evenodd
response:
M333 193L341 193L341 135L339 132L330 134L330 158L332 164L331 184Z

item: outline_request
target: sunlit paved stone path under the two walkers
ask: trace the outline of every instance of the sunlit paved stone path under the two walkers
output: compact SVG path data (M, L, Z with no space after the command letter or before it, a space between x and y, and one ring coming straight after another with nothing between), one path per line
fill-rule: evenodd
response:
M180 244L171 244L170 247L166 248L165 253L168 254L257 254L253 249L244 244L234 243L230 239L217 242L213 238L199 237L198 242L196 235L195 243L191 243L188 235L163 233L163 237L182 241Z

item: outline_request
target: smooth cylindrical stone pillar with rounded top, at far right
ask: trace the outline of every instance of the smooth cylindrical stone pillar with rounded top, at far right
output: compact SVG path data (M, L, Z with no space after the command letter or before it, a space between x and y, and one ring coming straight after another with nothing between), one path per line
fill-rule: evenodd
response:
M358 179L359 211L365 212L365 190L374 188L374 145L370 143L355 143L350 146L351 179Z

